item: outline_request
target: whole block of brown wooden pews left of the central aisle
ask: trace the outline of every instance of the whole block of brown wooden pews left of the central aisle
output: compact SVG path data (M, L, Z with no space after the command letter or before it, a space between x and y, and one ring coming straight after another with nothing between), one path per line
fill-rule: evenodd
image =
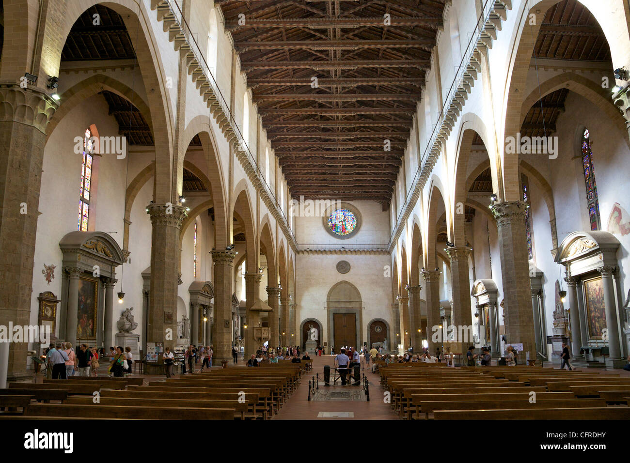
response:
M299 364L227 367L143 384L141 377L72 377L0 389L3 419L268 419L299 386Z

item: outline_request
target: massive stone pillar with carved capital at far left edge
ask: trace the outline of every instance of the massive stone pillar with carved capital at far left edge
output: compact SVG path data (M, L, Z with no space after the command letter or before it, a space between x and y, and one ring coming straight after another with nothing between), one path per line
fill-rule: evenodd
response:
M4 326L30 323L43 150L46 126L56 109L57 103L41 89L0 85L0 324ZM28 343L10 344L9 382L30 378L27 348Z

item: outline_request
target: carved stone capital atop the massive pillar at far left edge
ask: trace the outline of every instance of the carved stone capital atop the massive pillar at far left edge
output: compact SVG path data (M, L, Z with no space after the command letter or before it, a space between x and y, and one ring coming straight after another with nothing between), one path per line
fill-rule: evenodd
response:
M43 134L59 103L42 89L21 88L17 84L0 85L0 121L20 122Z

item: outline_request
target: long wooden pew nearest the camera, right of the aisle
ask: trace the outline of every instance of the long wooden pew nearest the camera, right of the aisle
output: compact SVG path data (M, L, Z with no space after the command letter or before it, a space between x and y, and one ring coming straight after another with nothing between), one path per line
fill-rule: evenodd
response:
M630 407L438 410L435 420L630 420Z

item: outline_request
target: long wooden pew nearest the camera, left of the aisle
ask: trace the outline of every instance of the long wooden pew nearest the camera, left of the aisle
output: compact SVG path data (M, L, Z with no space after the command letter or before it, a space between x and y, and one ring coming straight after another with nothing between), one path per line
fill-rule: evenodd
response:
M174 408L118 405L31 404L31 416L134 418L136 420L234 420L234 408Z

